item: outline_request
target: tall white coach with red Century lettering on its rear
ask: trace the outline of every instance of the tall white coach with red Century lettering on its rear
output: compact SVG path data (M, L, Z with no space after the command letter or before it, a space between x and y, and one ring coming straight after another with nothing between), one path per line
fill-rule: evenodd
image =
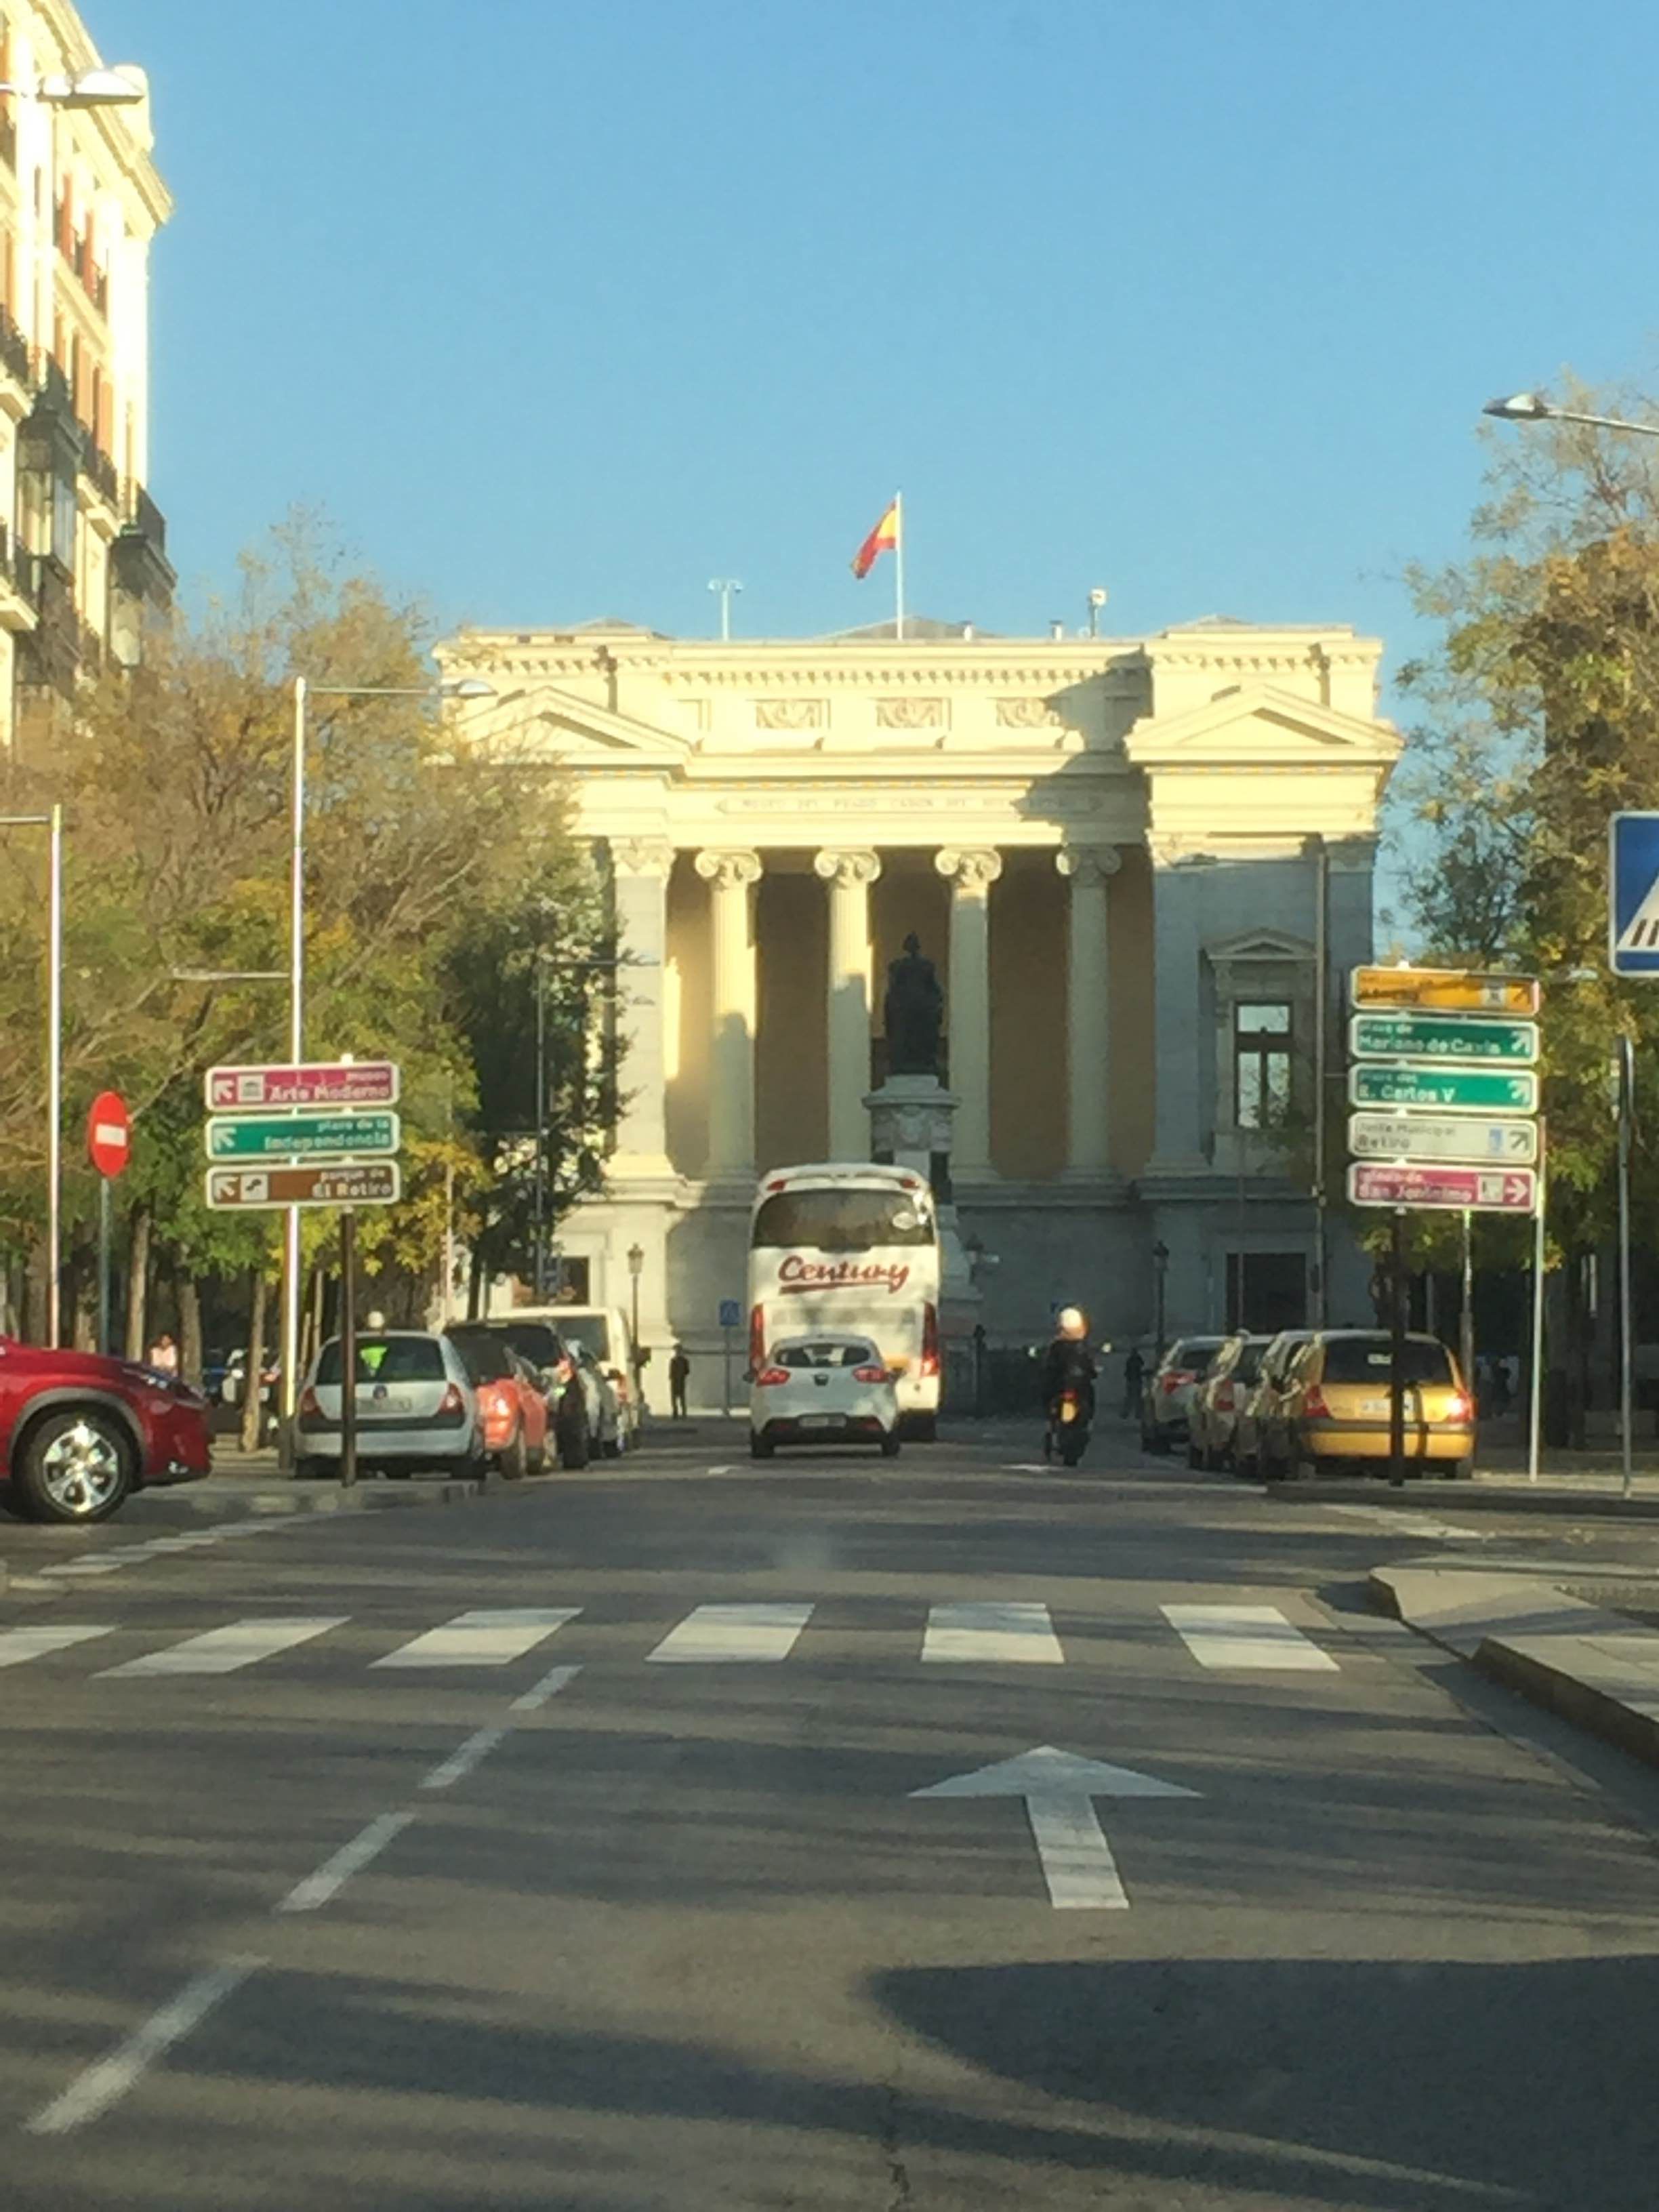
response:
M867 1336L909 1436L931 1438L940 1396L940 1248L927 1177L874 1161L772 1168L750 1217L750 1367L814 1329Z

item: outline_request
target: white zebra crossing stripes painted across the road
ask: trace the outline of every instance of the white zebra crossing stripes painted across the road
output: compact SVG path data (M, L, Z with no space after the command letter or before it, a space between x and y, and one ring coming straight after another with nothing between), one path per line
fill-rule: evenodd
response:
M1192 1663L1206 1674L1334 1674L1338 1661L1314 1637L1298 1628L1279 1606L1270 1604L1166 1604L1161 1621L1179 1666ZM327 1648L332 1637L352 1635L352 1655L369 1672L403 1672L416 1679L476 1674L507 1668L549 1639L571 1646L571 1630L606 1635L611 1655L626 1637L628 1621L606 1619L604 1606L480 1606L434 1621L414 1635L403 1635L387 1650L369 1655L376 1637L392 1635L383 1624L361 1621L345 1613L325 1615L246 1615L199 1628L190 1635L168 1635L122 1621L40 1621L0 1628L0 1670L51 1666L53 1661L88 1661L97 1681L157 1681L177 1677L243 1674L250 1668L279 1666L307 1648ZM805 1659L812 1650L810 1628L845 1630L852 1624L834 1604L699 1604L664 1628L639 1624L639 1648L626 1657L655 1666L776 1666ZM582 1641L577 1632L577 1641ZM863 1621L869 1635L869 1621ZM119 1641L111 1648L106 1639ZM146 1648L128 1657L113 1652L139 1637ZM1066 1666L1077 1657L1077 1644L1055 1628L1048 1606L1033 1599L973 1599L936 1604L925 1619L880 1626L880 1659L891 1661L896 1646L909 1650L929 1670L938 1668L1026 1668ZM836 1652L843 1652L838 1641ZM874 1659L876 1641L865 1644ZM100 1659L111 1663L100 1666Z

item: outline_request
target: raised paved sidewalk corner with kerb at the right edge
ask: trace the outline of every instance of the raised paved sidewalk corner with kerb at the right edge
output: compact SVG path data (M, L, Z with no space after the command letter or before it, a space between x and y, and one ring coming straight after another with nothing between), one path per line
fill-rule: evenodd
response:
M1659 1765L1659 1635L1528 1575L1378 1566L1369 1584L1378 1610Z

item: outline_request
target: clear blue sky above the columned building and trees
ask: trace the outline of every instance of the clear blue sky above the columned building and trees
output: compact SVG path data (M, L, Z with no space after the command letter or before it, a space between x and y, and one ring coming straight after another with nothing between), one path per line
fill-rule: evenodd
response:
M911 604L1411 644L1475 416L1652 361L1652 15L1559 0L82 0L144 62L188 582L294 502L445 622Z

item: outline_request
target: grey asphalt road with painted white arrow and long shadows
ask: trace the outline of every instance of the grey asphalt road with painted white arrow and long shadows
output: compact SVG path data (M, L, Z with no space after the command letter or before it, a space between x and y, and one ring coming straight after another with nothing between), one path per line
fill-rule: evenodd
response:
M1659 1776L1360 1593L1528 1533L1022 1458L0 1528L0 2203L1650 2212Z

